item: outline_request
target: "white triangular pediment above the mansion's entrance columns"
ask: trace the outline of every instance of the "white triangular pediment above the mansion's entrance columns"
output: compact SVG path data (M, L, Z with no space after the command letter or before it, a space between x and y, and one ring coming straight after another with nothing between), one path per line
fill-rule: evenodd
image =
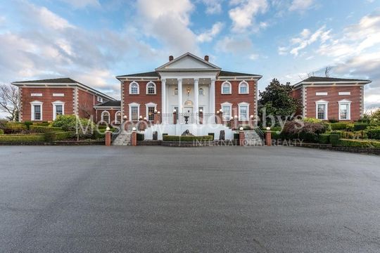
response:
M198 56L194 56L191 53L185 53L184 55L156 68L156 70L220 70L220 67L217 67Z

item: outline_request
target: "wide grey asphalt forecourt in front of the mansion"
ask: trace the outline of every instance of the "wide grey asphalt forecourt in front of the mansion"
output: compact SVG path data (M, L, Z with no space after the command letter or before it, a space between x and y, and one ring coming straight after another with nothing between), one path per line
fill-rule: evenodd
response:
M0 147L0 252L380 252L380 157Z

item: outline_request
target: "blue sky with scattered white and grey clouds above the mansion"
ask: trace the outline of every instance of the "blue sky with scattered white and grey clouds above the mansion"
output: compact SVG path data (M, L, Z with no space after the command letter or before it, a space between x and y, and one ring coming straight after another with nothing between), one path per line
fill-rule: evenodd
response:
M120 98L115 76L191 52L223 70L295 84L371 79L380 107L380 1L0 0L0 83L71 77Z

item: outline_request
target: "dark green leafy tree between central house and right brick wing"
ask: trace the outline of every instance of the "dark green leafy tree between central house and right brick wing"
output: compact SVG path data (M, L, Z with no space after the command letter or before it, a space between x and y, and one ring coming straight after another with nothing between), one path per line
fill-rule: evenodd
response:
M265 108L267 115L292 117L300 106L300 101L290 95L292 90L290 83L280 84L274 78L265 91L259 91L261 109Z

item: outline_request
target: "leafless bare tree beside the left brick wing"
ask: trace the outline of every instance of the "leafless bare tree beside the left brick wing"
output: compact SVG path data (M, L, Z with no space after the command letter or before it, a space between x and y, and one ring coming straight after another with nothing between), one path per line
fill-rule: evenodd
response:
M0 110L10 114L9 120L17 121L20 111L20 100L18 98L18 87L11 84L0 84Z

